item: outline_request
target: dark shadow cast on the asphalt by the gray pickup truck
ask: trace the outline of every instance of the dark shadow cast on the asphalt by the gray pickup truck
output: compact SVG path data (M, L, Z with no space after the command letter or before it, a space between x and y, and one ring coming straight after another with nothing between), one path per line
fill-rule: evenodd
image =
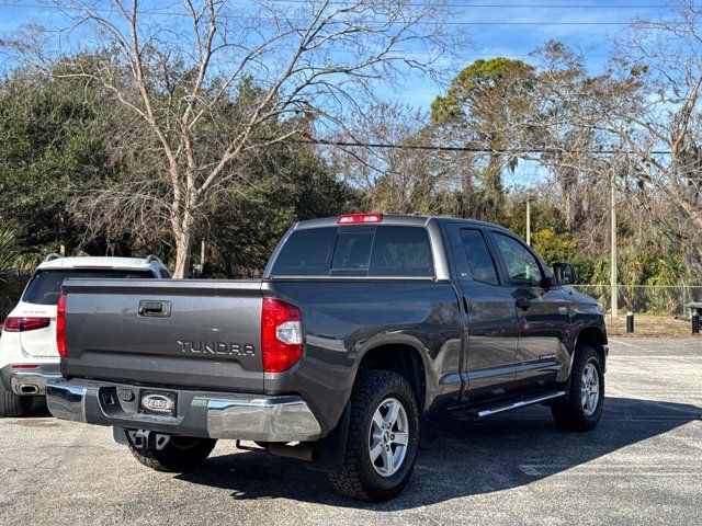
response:
M526 485L570 469L587 473L586 462L699 420L702 409L695 405L630 398L608 398L602 420L589 433L558 431L544 407L482 422L430 414L422 419L410 483L397 499L381 504L339 496L324 473L258 453L213 456L200 470L178 478L231 490L241 500L283 498L392 512Z

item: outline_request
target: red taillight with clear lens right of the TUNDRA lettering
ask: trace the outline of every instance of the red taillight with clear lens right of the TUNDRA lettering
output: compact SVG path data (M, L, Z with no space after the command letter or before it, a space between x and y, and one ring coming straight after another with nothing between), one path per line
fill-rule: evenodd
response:
M264 373L290 369L303 355L299 309L280 299L263 298L261 355Z

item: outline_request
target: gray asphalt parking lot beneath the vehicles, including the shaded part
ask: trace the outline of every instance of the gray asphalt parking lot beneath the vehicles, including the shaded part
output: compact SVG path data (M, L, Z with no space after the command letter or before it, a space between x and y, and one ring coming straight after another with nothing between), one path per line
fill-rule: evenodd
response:
M599 427L535 407L424 419L415 477L384 504L220 443L196 472L141 467L109 428L0 420L1 524L702 524L702 339L611 341Z

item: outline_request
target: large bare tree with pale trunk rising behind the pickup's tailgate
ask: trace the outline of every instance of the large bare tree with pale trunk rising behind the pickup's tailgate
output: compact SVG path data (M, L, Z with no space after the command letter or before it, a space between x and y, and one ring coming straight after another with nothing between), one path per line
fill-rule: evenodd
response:
M376 80L431 73L444 42L441 2L57 5L72 18L70 30L14 48L47 73L102 87L128 111L115 138L121 147L148 145L128 153L141 176L93 196L89 214L101 216L99 225L168 231L178 277L188 273L193 231L212 199L252 184L247 164L257 150L309 133L310 122L341 125L361 101L377 99ZM79 60L84 49L100 49L102 60Z

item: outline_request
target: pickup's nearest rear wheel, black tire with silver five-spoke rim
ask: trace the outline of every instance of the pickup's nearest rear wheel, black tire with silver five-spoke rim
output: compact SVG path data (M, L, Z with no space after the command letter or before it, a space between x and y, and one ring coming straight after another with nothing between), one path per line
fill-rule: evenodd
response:
M407 380L387 370L363 370L351 396L343 466L329 480L346 496L393 499L411 477L418 446L419 410Z

